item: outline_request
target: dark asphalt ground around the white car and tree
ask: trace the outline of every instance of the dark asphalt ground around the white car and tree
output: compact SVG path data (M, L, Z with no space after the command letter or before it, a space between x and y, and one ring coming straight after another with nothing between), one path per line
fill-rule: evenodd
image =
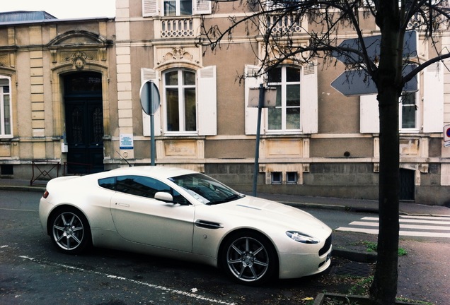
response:
M303 304L326 290L323 277L282 280L245 287L204 265L93 249L80 256L56 251L40 226L41 193L0 193L1 304ZM335 228L363 215L309 210ZM338 232L340 243L374 239ZM402 239L398 295L446 304L450 299L448 239ZM326 277L326 275L323 275Z

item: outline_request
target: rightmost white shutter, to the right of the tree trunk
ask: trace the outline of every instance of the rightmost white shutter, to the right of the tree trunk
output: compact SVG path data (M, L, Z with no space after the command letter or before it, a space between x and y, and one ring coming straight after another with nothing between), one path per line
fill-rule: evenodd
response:
M444 67L439 62L425 68L423 80L423 132L442 132L444 126Z

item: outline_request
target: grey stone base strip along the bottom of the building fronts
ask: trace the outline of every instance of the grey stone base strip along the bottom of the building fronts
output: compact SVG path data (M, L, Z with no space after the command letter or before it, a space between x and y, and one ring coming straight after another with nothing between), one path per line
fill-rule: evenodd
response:
M124 165L127 166L127 165ZM114 167L117 167L115 165ZM262 165L260 169L264 169ZM63 176L64 165L40 162L12 162L0 167L0 179L23 179L32 184ZM111 168L106 168L111 169ZM253 163L206 163L204 172L237 191L253 192ZM378 199L379 173L371 163L311 163L303 172L301 184L267 184L267 173L258 173L257 193L283 193L298 196ZM450 186L441 186L441 165L429 164L426 172L411 172L413 198L405 202L450 206ZM405 183L405 182L404 182ZM408 183L408 182L406 182ZM400 190L401 192L401 190ZM401 198L400 198L401 199Z

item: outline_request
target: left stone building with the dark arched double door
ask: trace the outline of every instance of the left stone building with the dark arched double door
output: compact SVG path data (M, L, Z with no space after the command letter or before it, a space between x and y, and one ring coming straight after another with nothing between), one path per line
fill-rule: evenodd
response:
M0 18L1 177L34 182L103 170L108 121L117 119L114 19L23 11Z

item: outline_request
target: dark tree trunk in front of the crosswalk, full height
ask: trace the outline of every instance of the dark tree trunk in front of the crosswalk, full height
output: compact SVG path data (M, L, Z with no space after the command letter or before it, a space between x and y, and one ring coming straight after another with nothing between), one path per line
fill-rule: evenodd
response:
M400 191L398 99L403 89L403 35L398 1L380 1L380 61L374 75L380 114L378 257L370 299L376 305L396 303Z

